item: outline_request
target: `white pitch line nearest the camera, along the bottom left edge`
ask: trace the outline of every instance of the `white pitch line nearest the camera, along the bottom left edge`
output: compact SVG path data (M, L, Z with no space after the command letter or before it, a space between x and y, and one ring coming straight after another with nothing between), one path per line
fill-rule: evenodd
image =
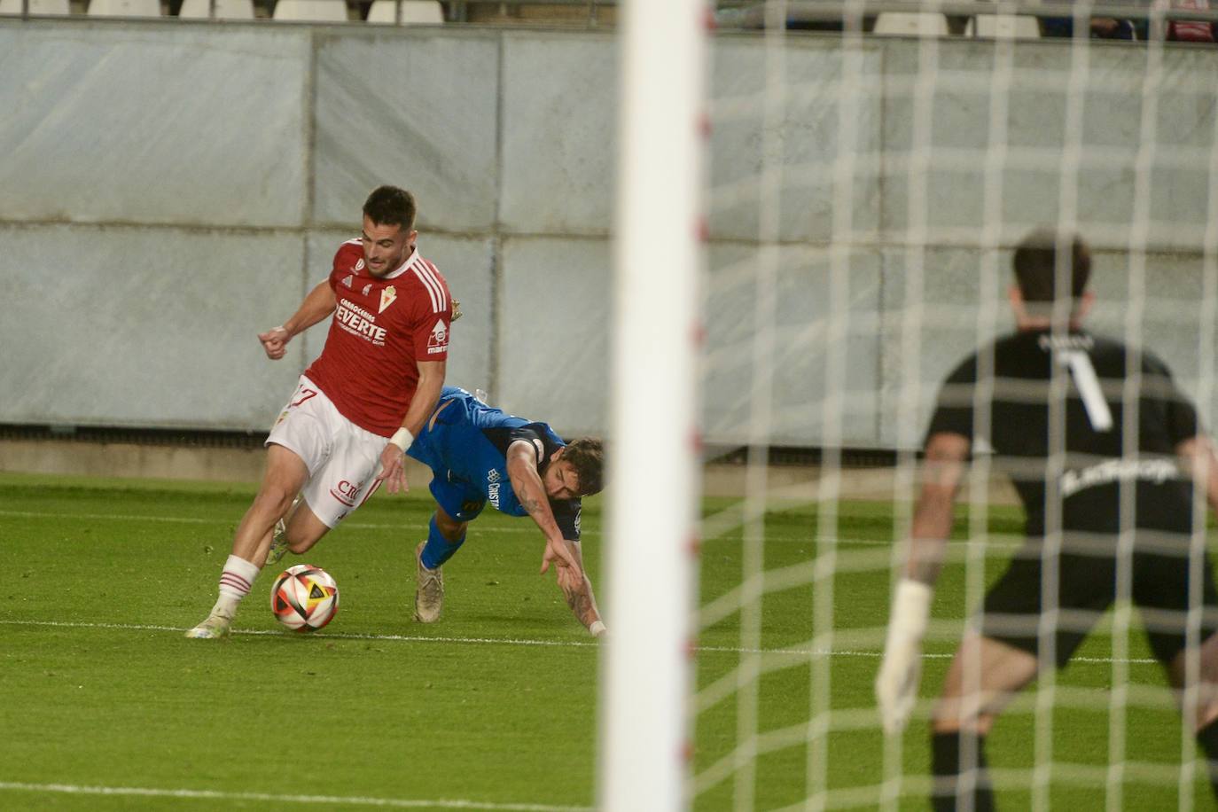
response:
M408 800L397 797L359 797L340 795L272 795L269 793L222 793L207 789L153 789L147 786L80 786L77 784L23 784L0 782L0 790L24 793L67 793L71 795L134 795L143 797L184 797L217 801L273 801L276 803L347 803L351 806L387 806L421 810L493 810L496 812L590 812L587 806L552 806L548 803L493 803L462 800Z

